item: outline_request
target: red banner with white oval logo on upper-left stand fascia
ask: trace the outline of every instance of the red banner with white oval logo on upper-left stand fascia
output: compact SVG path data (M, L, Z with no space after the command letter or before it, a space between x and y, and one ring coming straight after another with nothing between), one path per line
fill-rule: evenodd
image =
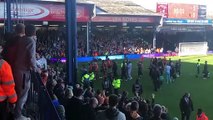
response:
M77 5L77 21L86 22L89 20L89 7ZM5 14L4 14L5 11ZM65 21L64 4L41 4L23 3L11 5L12 19L36 20L36 21ZM0 19L6 17L6 6L0 3Z

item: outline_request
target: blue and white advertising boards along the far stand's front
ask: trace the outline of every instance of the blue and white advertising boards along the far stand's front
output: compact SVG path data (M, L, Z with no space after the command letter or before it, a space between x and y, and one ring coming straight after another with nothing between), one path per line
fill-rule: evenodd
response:
M162 56L176 56L176 53L153 53L153 54L127 54L127 55L109 55L108 58L110 60L122 60L124 58L128 58L128 59L140 59L142 57L144 58L153 58L153 57L162 57ZM105 60L106 56L95 56L95 57L78 57L77 58L77 62L81 63L81 62L90 62L93 59L100 59L100 60ZM66 58L52 58L51 61L56 62L56 61L60 61L60 62L66 62Z

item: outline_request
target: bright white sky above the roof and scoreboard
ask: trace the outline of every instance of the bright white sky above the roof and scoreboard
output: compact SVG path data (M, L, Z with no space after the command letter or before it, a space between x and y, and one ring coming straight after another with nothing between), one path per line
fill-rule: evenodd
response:
M207 5L207 14L213 12L213 0L131 0L146 9L156 10L156 4L158 2L163 3L188 3L188 4L200 4Z

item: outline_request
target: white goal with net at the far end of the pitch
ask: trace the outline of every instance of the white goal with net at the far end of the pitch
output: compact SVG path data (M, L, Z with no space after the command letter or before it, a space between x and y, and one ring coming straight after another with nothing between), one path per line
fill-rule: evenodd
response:
M182 42L179 43L179 56L207 55L207 42Z

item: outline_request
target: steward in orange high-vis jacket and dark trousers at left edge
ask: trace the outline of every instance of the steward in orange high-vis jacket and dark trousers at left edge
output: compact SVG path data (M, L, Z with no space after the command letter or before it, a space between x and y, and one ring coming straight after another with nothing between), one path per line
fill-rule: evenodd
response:
M17 95L10 65L0 58L0 120L7 120L7 103L15 105Z

